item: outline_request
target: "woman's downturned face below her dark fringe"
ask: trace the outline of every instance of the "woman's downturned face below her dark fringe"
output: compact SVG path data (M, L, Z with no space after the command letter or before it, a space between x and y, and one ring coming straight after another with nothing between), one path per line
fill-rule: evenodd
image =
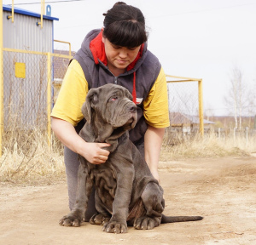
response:
M113 43L110 43L106 37L102 37L102 42L105 44L108 69L112 72L120 71L120 74L124 73L126 67L129 66L133 60L135 60L138 51L141 48L141 45L136 48L116 46Z

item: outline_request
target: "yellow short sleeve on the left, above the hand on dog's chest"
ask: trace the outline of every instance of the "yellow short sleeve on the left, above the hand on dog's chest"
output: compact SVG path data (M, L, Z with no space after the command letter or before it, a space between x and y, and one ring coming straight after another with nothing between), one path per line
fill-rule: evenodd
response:
M87 93L88 83L84 77L84 71L77 60L72 60L50 116L76 126L84 117L81 108Z

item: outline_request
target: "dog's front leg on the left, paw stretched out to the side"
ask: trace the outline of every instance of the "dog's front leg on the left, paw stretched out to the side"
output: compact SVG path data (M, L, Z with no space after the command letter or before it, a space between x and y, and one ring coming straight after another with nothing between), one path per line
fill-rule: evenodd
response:
M63 216L59 224L64 226L80 226L84 219L88 199L92 189L92 182L84 164L79 165L78 189L76 203L70 214Z

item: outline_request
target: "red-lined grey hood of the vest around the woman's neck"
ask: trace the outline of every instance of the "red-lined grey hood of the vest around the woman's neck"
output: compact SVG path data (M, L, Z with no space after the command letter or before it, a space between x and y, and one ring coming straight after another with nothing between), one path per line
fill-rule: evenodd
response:
M137 71L138 67L143 64L143 60L147 55L147 46L147 43L142 44L136 59L127 67L127 71ZM90 31L84 38L81 49L91 58L91 60L94 60L96 65L102 64L103 66L108 66L105 46L104 43L102 43L101 29Z

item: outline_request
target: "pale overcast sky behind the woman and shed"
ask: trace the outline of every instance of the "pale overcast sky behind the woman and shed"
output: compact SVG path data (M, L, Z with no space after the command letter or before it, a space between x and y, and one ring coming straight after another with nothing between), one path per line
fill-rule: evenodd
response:
M11 2L3 0L3 4ZM55 39L70 42L77 51L90 30L102 27L102 14L117 1L45 2L51 6L51 16L60 19L54 23ZM166 74L203 79L204 107L213 109L215 115L225 114L224 96L234 66L241 69L246 83L256 83L256 0L124 2L143 11L148 49L159 58ZM41 1L15 0L16 7L40 13L36 3Z

